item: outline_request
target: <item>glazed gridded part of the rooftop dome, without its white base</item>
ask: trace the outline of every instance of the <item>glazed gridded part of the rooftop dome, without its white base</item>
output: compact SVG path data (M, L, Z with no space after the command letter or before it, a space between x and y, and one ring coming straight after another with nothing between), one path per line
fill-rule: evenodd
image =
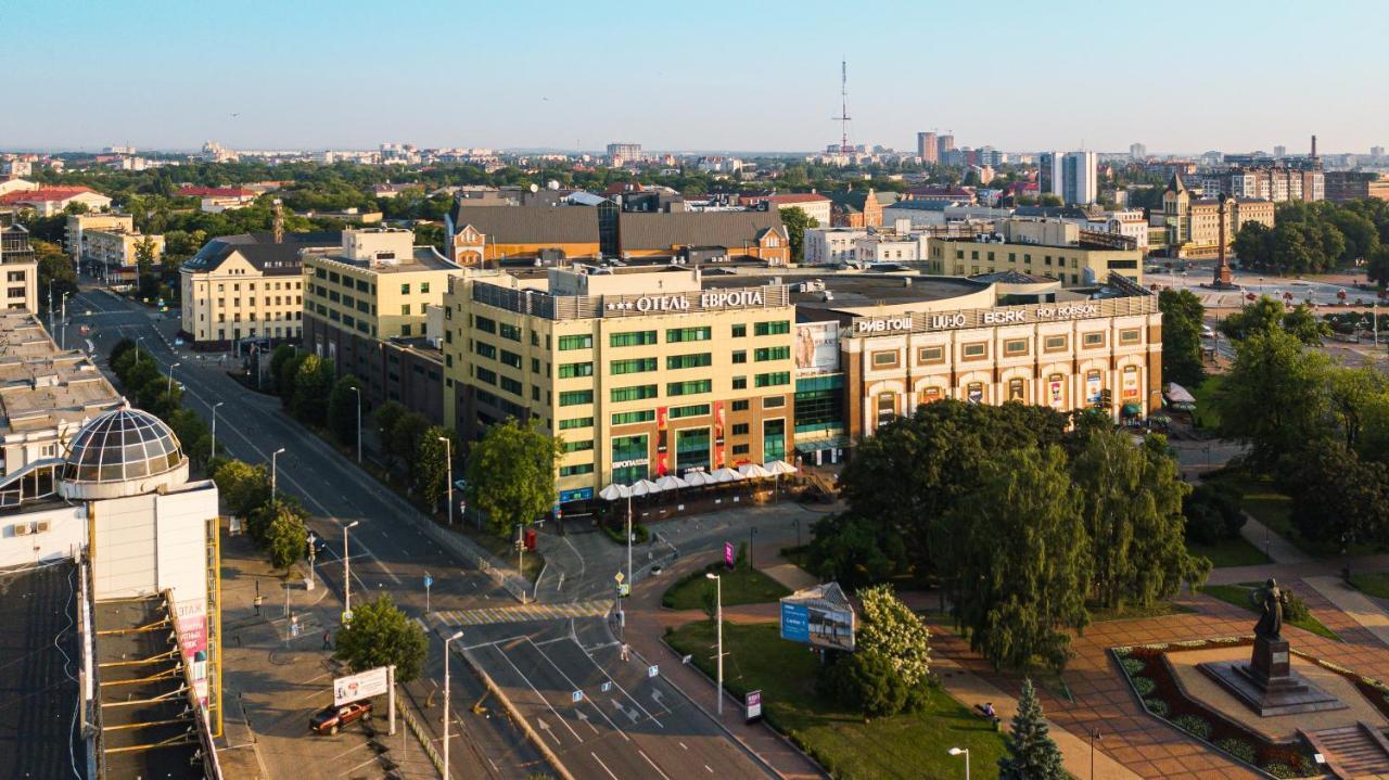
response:
M178 437L140 409L115 409L82 426L68 447L63 479L119 483L171 472L183 464Z

